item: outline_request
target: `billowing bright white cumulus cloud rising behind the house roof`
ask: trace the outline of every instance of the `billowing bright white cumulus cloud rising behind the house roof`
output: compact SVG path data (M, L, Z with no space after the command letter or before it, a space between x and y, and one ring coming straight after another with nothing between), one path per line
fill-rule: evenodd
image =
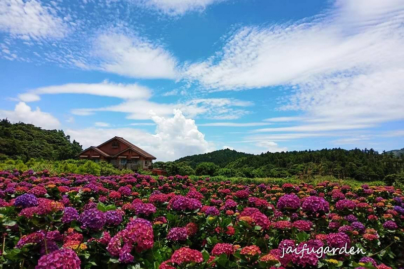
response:
M174 117L171 118L152 115L151 119L157 125L154 134L134 128L68 129L66 134L80 141L84 147L121 136L162 161L215 150L215 147L205 140L204 134L198 131L195 121L185 118L179 110L175 110Z

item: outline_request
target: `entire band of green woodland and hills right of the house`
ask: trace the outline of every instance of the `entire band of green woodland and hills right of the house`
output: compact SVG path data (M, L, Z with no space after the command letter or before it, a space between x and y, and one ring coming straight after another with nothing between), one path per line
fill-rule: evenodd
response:
M195 168L196 175L245 177L245 178L288 178L297 176L301 180L311 178L314 175L332 175L336 178L353 178L359 181L383 180L392 184L401 181L404 168L403 155L397 156L393 152L378 153L373 149L340 148L289 151L276 153L262 153L260 155L243 155L243 157L228 162L226 153L233 150L217 150L211 153L199 154L181 158L183 162L176 161L183 170ZM240 152L239 152L240 153ZM240 154L238 154L240 155ZM222 167L211 162L218 156L223 156L219 164L228 163ZM233 154L232 156L235 156ZM187 161L185 161L187 160ZM160 164L163 166L163 164ZM176 166L176 165L171 165ZM209 167L209 169L208 169ZM179 170L168 169L170 175L175 175ZM180 175L185 175L178 173ZM390 176L394 174L395 176ZM187 175L192 175L188 173Z

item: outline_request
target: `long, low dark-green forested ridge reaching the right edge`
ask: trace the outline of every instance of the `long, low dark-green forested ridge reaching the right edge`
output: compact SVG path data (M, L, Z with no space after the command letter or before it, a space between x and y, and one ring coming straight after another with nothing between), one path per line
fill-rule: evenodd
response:
M260 176L311 173L351 177L357 180L380 180L403 171L404 157L379 153L373 149L341 148L262 153L240 158L226 169L254 169Z

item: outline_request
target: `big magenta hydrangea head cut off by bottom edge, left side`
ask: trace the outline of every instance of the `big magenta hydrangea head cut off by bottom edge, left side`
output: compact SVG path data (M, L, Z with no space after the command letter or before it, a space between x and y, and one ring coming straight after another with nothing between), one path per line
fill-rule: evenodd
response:
M80 259L70 248L64 248L43 255L35 269L80 269Z

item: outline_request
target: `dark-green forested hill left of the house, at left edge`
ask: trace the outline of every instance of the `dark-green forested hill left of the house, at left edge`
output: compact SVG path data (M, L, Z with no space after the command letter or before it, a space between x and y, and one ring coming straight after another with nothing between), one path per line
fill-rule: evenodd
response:
M0 157L62 160L74 158L82 146L62 130L44 130L32 124L0 121Z

